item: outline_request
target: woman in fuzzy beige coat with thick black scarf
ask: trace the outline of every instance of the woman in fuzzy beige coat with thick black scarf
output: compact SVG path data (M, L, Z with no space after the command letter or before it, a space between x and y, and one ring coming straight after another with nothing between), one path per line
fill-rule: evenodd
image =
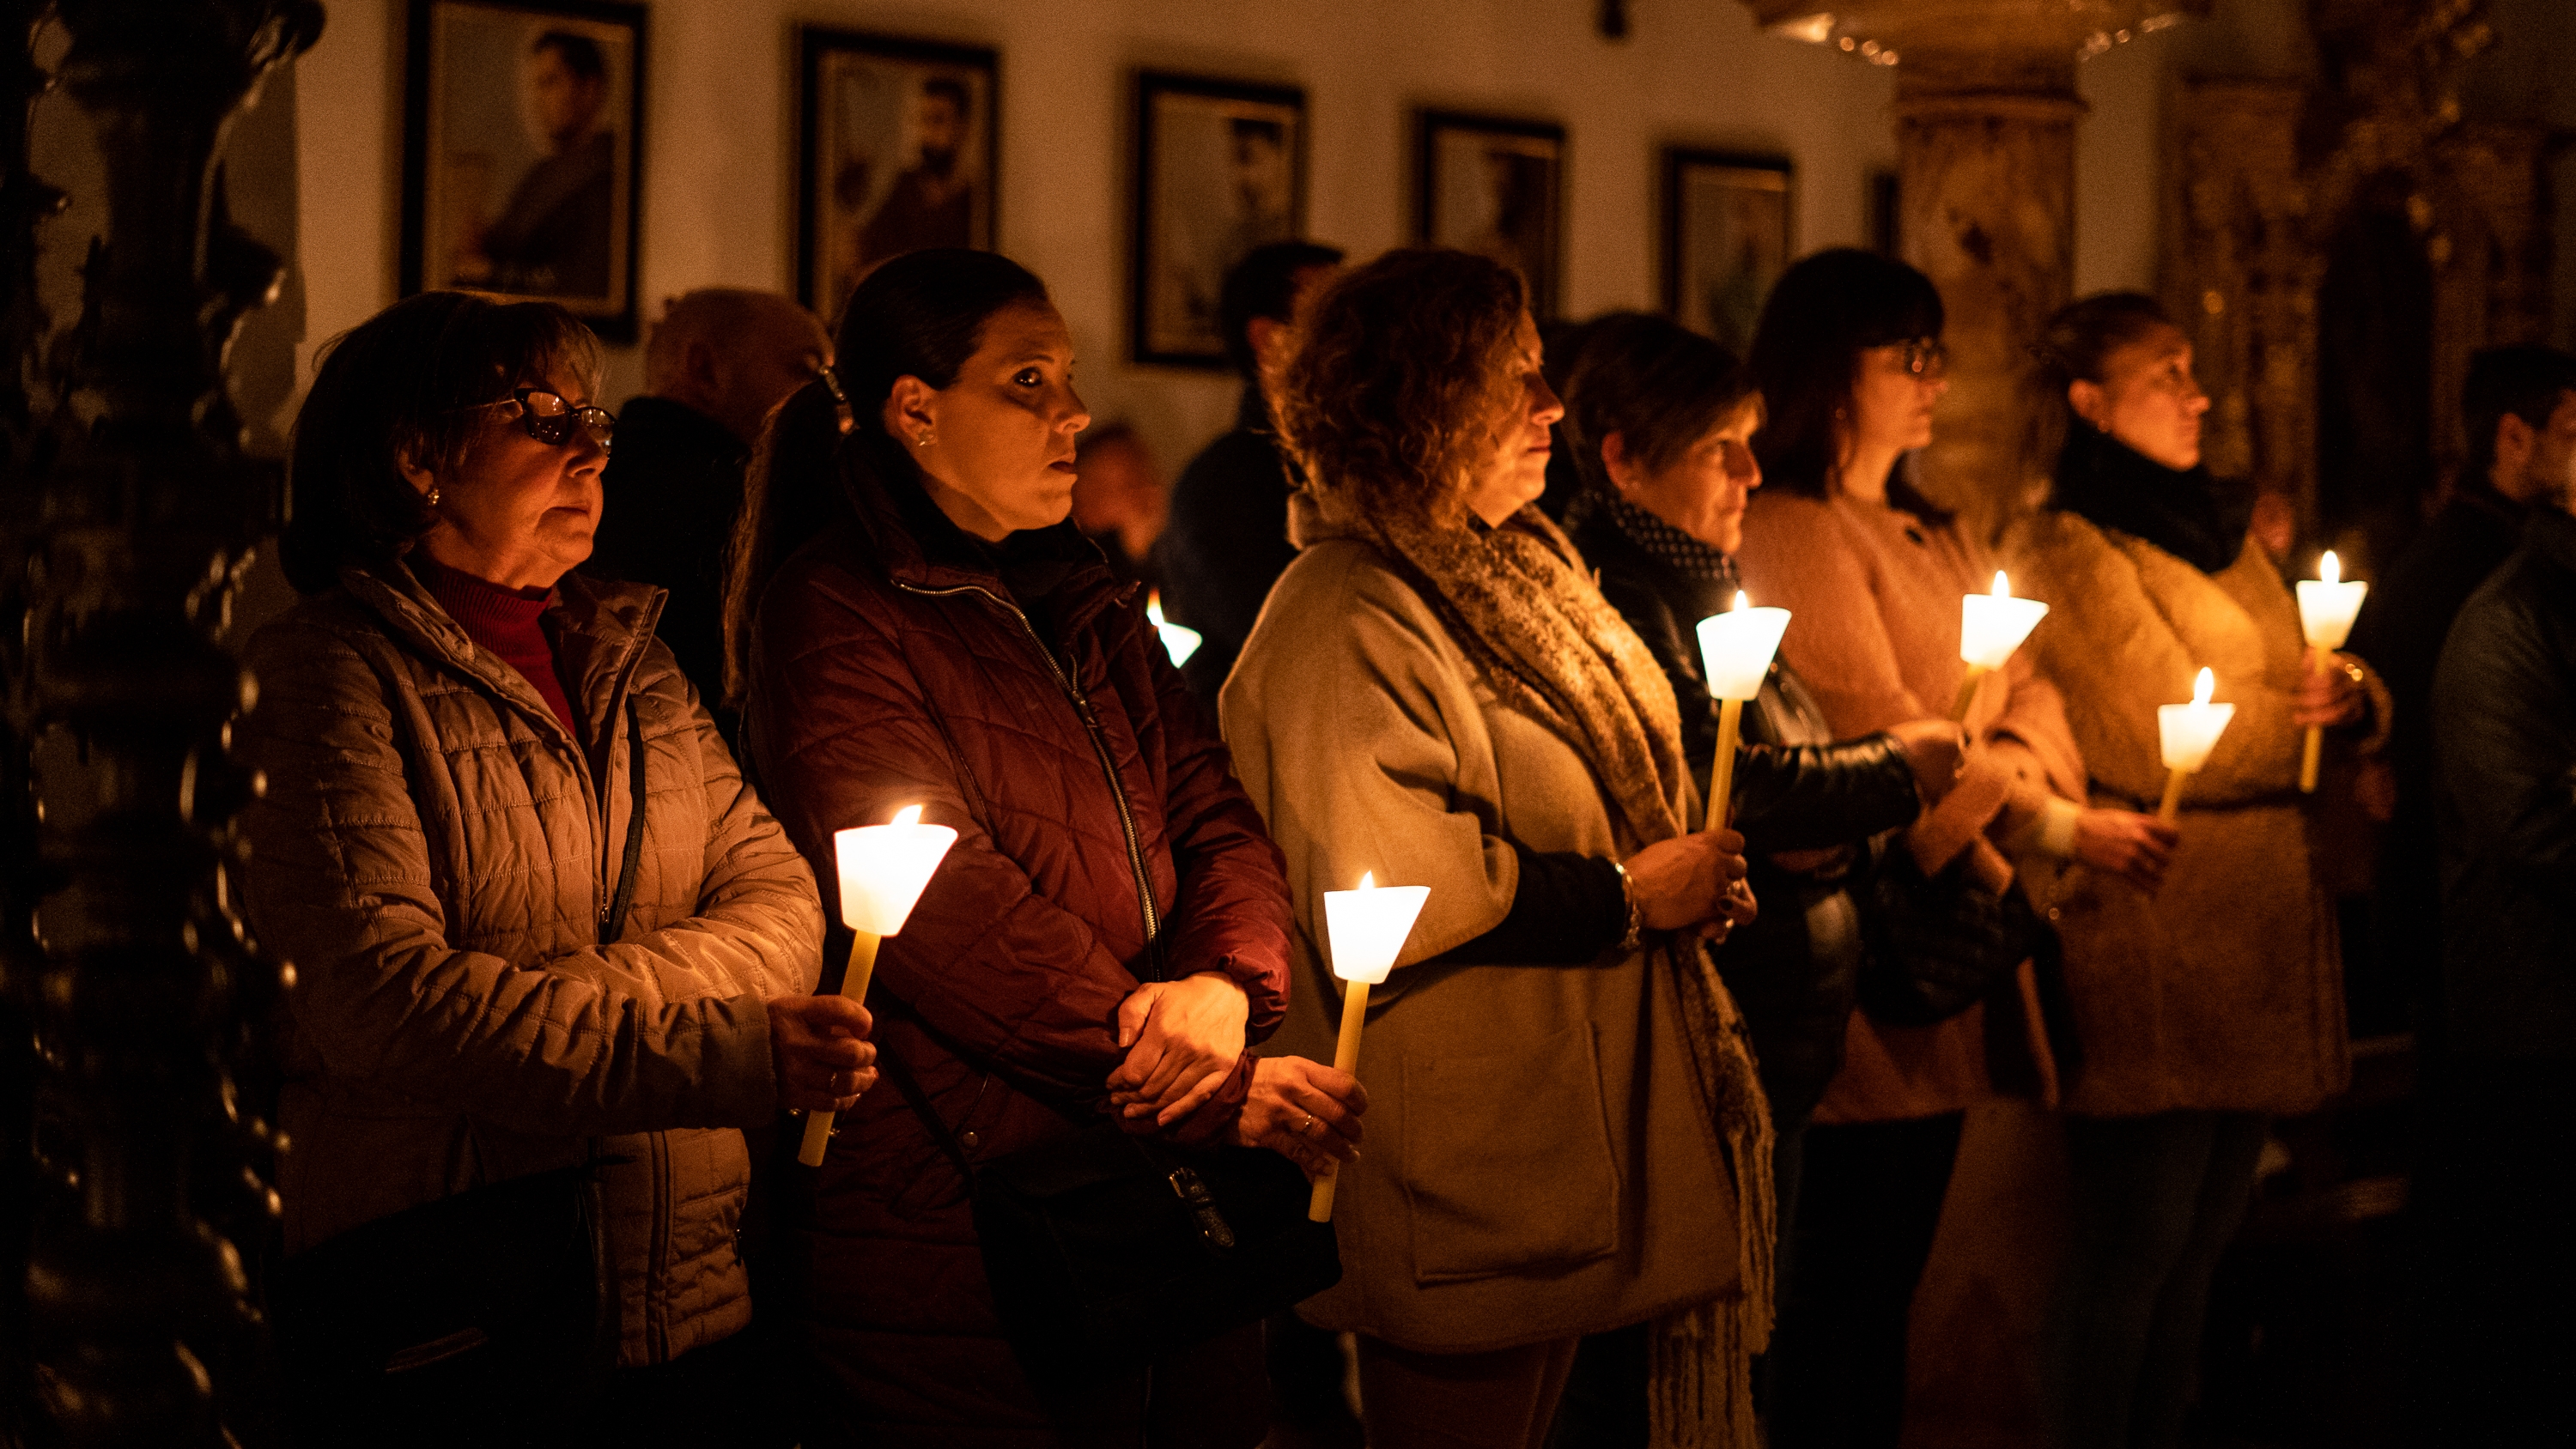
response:
M2236 705L2182 795L2161 891L2074 867L2053 883L2081 1066L2066 1089L2074 1233L2050 1336L2058 1431L2174 1444L2218 1253L2254 1189L2264 1120L2344 1089L2334 911L2308 862L2306 726L2388 718L2354 659L2311 672L2298 605L2246 535L2251 492L2200 466L2192 345L2146 296L2050 319L2066 407L2053 507L2012 540L2053 610L2030 641L2066 692L2099 806L2166 782L2156 705L2218 677Z

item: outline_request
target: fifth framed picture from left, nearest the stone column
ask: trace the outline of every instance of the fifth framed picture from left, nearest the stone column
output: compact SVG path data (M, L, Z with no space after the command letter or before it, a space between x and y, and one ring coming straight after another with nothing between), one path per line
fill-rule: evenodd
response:
M1777 157L1664 152L1664 311L1739 358L1795 255L1788 180Z

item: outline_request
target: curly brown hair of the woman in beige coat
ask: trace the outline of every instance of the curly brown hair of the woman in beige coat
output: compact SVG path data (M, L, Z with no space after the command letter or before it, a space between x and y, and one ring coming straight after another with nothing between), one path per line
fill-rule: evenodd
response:
M1445 520L1520 404L1520 273L1406 247L1334 278L1280 378L1278 430L1327 515Z

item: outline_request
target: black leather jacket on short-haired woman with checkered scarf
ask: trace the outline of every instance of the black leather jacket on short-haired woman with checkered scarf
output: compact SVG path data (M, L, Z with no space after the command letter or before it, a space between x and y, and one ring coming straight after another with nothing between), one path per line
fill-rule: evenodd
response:
M1718 705L1700 677L1698 623L1731 602L1726 587L1646 553L1602 510L1574 530L1574 546L1600 569L1602 597L1672 679L1682 749L1705 793ZM1734 793L1762 916L1736 932L1716 963L1752 1032L1772 1120L1793 1127L1816 1109L1842 1066L1860 978L1860 911L1850 893L1852 870L1865 860L1857 847L1911 824L1922 800L1896 736L1834 744L1824 710L1780 664L1744 710ZM1808 870L1777 860L1777 852L1834 847L1829 862Z

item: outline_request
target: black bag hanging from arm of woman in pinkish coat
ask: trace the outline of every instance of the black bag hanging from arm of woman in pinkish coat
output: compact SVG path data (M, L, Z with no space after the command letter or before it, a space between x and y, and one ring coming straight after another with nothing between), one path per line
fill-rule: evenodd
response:
M1924 875L1901 834L1873 847L1878 867L1860 901L1860 1009L1891 1027L1929 1027L2012 986L2058 932L2022 896L1968 878L1968 860Z

